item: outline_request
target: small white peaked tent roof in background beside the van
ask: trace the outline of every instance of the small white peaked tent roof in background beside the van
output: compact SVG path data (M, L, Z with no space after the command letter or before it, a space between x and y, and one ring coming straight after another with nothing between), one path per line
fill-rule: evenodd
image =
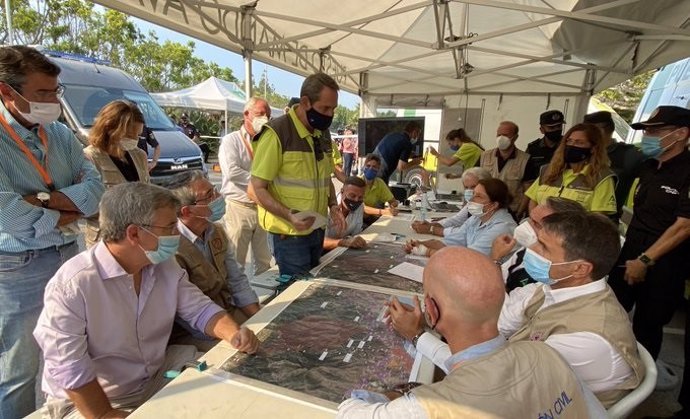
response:
M244 92L233 82L210 77L186 89L165 93L151 93L161 106L210 109L242 113Z

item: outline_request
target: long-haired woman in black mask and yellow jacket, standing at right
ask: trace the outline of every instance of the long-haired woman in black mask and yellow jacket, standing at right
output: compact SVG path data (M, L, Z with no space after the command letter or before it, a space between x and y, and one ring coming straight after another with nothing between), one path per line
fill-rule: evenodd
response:
M587 211L616 213L615 174L609 167L606 140L592 124L577 124L563 136L551 163L525 192L530 210L550 196L578 202Z

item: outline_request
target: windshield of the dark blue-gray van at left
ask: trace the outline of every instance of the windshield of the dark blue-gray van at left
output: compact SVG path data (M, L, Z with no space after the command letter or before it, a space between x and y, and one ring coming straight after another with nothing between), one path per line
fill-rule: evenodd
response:
M174 131L177 129L160 106L145 92L75 84L65 85L64 100L84 128L91 128L101 108L118 99L135 102L144 114L146 125L152 130Z

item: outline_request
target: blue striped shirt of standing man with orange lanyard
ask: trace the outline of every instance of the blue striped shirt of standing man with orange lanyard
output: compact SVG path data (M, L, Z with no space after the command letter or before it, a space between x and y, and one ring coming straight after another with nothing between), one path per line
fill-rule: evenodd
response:
M84 148L72 131L59 122L44 126L48 138L45 150L38 137L38 125L25 128L0 103L0 112L39 162L48 156L48 173L55 190L62 192L85 215L98 212L104 187L94 165L84 157ZM76 240L58 228L60 212L37 207L22 197L50 192L43 178L12 137L0 127L0 251L59 246Z

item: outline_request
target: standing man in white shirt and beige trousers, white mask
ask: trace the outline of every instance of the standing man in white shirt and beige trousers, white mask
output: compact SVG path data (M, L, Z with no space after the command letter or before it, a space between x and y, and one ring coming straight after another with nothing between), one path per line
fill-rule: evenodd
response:
M235 248L237 261L246 269L251 246L253 273L258 275L271 267L271 252L266 231L259 226L256 203L247 195L247 187L254 160L252 138L271 118L271 107L266 100L253 97L244 105L243 118L240 129L226 135L220 142L218 162L223 174L220 192L229 208L224 217L225 229Z

